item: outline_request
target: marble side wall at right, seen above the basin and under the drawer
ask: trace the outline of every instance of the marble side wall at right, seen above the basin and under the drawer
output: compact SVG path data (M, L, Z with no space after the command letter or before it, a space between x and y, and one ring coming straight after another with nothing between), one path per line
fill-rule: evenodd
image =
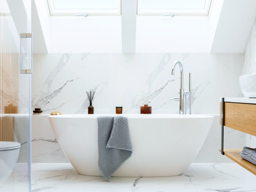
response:
M252 25L243 52L242 74L256 73L256 20ZM246 134L246 146L256 148L256 137Z

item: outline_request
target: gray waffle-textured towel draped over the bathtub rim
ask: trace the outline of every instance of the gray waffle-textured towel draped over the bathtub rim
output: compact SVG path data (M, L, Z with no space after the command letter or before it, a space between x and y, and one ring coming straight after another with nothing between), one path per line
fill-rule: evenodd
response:
M126 117L98 117L98 149L98 167L109 182L111 175L132 155Z

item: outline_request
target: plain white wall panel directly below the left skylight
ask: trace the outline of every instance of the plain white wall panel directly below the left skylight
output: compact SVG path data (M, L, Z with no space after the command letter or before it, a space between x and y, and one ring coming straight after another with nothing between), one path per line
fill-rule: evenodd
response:
M51 16L49 53L122 52L121 16Z

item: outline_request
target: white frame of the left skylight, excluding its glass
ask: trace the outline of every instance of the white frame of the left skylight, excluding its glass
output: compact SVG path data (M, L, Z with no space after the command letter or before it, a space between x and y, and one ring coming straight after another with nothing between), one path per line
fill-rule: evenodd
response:
M53 0L47 0L50 15L76 15L88 13L89 15L121 15L121 0L118 0L116 9L55 9Z

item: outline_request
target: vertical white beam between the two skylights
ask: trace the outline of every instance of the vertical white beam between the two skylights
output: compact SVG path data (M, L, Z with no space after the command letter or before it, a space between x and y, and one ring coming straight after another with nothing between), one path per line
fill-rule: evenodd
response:
M136 51L137 0L121 0L122 5L122 52Z

